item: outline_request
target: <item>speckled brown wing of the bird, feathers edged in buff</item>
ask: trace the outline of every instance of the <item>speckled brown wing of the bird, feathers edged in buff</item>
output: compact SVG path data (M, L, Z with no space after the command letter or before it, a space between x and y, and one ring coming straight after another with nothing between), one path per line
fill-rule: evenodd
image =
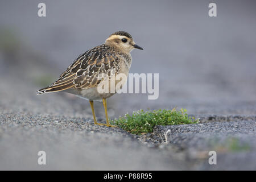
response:
M119 61L121 57L112 48L105 44L94 47L82 53L61 74L59 79L46 88L38 90L39 94L48 92L59 92L72 87L88 89L100 84L98 76L105 73L108 76L116 75L120 71Z

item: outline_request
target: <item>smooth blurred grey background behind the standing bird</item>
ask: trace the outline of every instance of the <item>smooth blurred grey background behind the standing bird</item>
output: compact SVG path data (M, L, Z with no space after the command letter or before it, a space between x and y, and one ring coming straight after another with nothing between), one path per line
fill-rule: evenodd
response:
M46 3L46 17L38 16L40 2ZM210 2L217 4L217 17L208 16ZM255 1L1 1L0 104L6 110L34 113L67 99L71 105L59 109L61 114L76 107L72 114L86 117L88 101L63 93L35 96L36 90L55 81L80 53L122 30L144 48L132 52L130 73L159 73L159 98L116 94L109 98L110 117L174 106L185 107L189 114L255 114L255 5ZM96 107L97 115L104 115L102 105Z

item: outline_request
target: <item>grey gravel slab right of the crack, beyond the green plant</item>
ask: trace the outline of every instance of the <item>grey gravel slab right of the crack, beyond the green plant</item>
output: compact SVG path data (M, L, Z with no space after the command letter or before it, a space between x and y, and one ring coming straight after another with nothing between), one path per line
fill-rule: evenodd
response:
M209 122L195 125L156 126L154 134L167 137L168 143L187 153L197 169L256 169L256 132L254 121ZM167 131L170 130L170 133ZM166 136L165 136L165 135ZM217 165L210 166L208 152L217 152ZM239 165L237 165L239 164Z

